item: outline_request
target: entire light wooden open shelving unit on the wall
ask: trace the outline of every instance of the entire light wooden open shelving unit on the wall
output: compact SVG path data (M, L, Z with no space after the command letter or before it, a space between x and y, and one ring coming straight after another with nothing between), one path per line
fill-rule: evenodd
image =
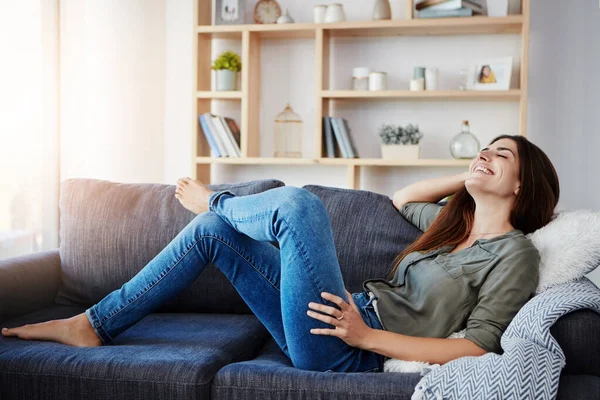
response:
M271 165L270 169L277 171L277 166L289 165L300 169L305 165L324 165L343 168L346 170L346 187L350 189L361 188L361 175L369 168L393 167L439 167L439 168L464 168L467 169L472 160L455 160L452 158L423 158L417 160L384 160L382 158L276 158L261 157L260 143L264 140L264 129L261 119L264 115L261 110L261 78L263 65L272 60L261 60L264 40L273 39L303 39L312 42L314 49L314 85L306 87L312 95L310 108L314 110L311 116L314 122L315 134L309 154L321 156L326 154L323 143L323 117L331 115L337 106L344 106L343 102L376 101L395 102L395 106L407 107L410 102L438 102L433 107L445 107L447 103L464 102L464 109L469 109L474 102L487 102L496 106L495 102L515 102L518 104L518 130L517 133L527 135L527 98L528 98L528 70L529 70L529 29L530 29L530 1L521 0L521 14L506 17L465 17L465 18L415 18L414 2L405 1L404 16L402 20L385 21L344 21L339 23L293 23L293 24L243 24L243 25L210 25L213 14L211 0L194 0L194 29L193 55L195 82L191 97L194 101L194 115L190 118L193 124L192 157L190 160L192 175L206 183L213 183L211 179L216 176L220 167L217 165L233 165L242 167L246 165ZM418 14L417 14L418 15ZM515 35L520 37L520 57L518 66L518 82L514 83L519 89L507 91L462 91L440 90L420 91L388 90L381 92L352 91L352 90L324 90L332 88L332 73L336 57L336 41L334 38L366 38L365 44L375 43L379 37L410 37L432 36L430 40L439 41L440 36L459 35ZM239 42L241 59L244 63L240 74L240 87L243 90L233 92L217 92L209 89L213 87L214 74L211 70L212 54L215 39L233 39ZM371 38L371 39L369 39ZM474 37L478 40L479 38ZM500 39L500 38L499 38ZM461 39L463 40L463 39ZM471 37L464 38L470 41ZM429 40L426 40L429 42ZM512 38L511 38L512 42ZM515 41L516 43L516 41ZM302 46L304 49L304 46ZM422 48L419 46L419 49ZM310 50L303 50L310 51ZM425 51L425 50L422 50ZM385 55L380 55L385 57ZM407 57L412 57L407 54ZM450 53L440 54L439 57L452 57ZM406 58L406 57L405 57ZM417 57L418 58L418 57ZM374 61L376 62L376 61ZM468 62L468 60L466 61ZM399 88L408 89L408 82L398 84ZM240 115L236 123L241 132L240 150L243 157L211 157L211 147L204 136L198 123L198 116L207 112L220 110L220 101L233 102L237 108L239 102ZM403 103L404 102L404 103ZM350 104L347 104L350 106ZM376 106L377 104L374 104ZM513 108L513 104L505 104ZM422 117L424 118L424 117ZM264 122L263 122L264 123ZM350 121L352 124L352 121ZM418 121L416 121L418 123ZM269 127L270 128L270 127ZM214 144L213 144L214 145ZM359 149L360 150L360 149ZM231 167L234 168L234 167ZM308 174L308 168L305 168ZM339 172L339 171L338 171ZM407 171L410 173L410 171ZM310 176L310 175L309 175Z

